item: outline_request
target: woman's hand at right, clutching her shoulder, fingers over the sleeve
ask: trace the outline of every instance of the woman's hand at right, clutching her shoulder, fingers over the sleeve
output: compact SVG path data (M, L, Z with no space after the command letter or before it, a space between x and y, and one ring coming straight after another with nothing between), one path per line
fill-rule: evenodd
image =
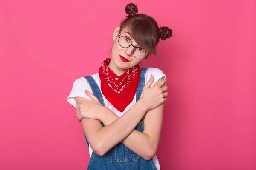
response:
M165 92L168 88L165 86L165 83L167 82L166 79L160 79L153 87L150 87L153 82L154 76L151 75L151 78L144 86L140 96L140 99L143 100L145 105L148 107L148 111L163 104L163 102L167 100L166 96L168 96L168 93Z

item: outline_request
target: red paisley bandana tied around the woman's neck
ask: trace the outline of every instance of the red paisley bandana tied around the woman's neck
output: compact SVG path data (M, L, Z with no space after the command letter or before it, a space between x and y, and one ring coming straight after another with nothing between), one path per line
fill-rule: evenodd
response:
M121 76L117 76L108 68L111 58L102 62L99 68L102 94L120 112L134 99L140 82L140 66L135 65Z

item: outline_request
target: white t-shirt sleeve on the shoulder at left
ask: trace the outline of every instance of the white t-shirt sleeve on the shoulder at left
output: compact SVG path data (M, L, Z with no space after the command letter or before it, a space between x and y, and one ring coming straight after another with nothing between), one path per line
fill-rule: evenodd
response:
M85 94L85 89L92 93L92 88L90 87L87 79L84 77L76 79L76 81L73 83L70 95L67 97L67 102L76 107L75 97L84 97L85 99L91 100L90 97Z

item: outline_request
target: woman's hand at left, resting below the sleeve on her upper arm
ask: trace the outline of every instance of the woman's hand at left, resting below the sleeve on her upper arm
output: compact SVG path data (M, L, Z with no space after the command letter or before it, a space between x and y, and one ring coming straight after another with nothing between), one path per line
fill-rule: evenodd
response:
M99 102L99 99L85 91L85 94L92 100L83 100L76 106L76 116L79 122L81 119L99 119L99 114L105 110L105 107Z

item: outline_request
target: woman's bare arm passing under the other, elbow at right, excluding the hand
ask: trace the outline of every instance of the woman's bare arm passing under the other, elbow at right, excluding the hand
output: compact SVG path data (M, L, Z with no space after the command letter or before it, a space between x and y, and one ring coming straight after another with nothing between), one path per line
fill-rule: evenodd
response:
M134 129L122 140L126 147L146 160L150 160L157 151L163 121L163 107L164 104L146 113L143 133ZM111 110L101 115L100 120L105 126L118 119Z

